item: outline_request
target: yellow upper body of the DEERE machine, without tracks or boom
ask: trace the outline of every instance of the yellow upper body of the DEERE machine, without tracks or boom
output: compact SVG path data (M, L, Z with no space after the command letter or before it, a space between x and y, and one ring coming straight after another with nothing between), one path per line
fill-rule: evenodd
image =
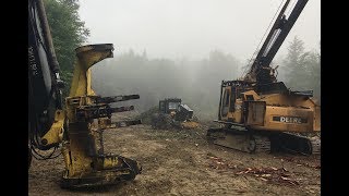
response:
M305 96L275 93L258 96L253 89L241 91L227 86L224 87L222 99L220 121L270 132L321 131L320 106ZM242 111L243 109L245 111Z

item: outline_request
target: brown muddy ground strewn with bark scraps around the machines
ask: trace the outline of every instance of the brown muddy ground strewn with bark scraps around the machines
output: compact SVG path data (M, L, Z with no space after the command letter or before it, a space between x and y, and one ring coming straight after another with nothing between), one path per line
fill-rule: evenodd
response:
M106 152L143 166L134 181L99 188L59 186L62 157L33 159L29 195L320 195L320 156L250 155L207 143L207 126L152 130L148 125L105 132Z

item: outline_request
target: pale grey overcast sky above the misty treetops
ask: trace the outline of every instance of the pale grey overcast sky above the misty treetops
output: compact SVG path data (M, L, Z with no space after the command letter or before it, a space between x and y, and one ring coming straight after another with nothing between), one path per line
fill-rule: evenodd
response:
M115 56L133 49L151 58L201 59L219 49L241 61L257 47L282 0L80 0L87 44L111 42ZM291 3L293 3L291 1ZM321 2L309 0L281 46L298 36L318 49Z

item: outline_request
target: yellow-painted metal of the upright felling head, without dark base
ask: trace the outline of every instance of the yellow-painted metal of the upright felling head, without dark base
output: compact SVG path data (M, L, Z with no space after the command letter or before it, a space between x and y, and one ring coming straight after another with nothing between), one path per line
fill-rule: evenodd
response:
M106 128L110 121L105 118L91 121L77 121L75 110L93 103L96 94L92 89L91 68L97 62L112 57L112 46L84 46L77 48L74 75L72 79L70 97L65 99L65 111L69 130L69 140L63 142L62 154L67 167L63 179L79 179L85 175L97 175L95 170L120 168L121 162L117 157L97 158L99 138L97 130ZM128 174L124 171L119 172ZM115 179L118 172L106 174L103 177ZM107 176L108 175L108 176Z

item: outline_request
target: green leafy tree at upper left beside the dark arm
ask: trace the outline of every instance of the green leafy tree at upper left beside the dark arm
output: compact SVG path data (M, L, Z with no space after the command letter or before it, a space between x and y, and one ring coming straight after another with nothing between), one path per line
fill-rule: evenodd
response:
M44 0L44 3L61 77L67 84L63 90L65 97L73 76L74 50L87 39L89 30L80 20L77 0Z

